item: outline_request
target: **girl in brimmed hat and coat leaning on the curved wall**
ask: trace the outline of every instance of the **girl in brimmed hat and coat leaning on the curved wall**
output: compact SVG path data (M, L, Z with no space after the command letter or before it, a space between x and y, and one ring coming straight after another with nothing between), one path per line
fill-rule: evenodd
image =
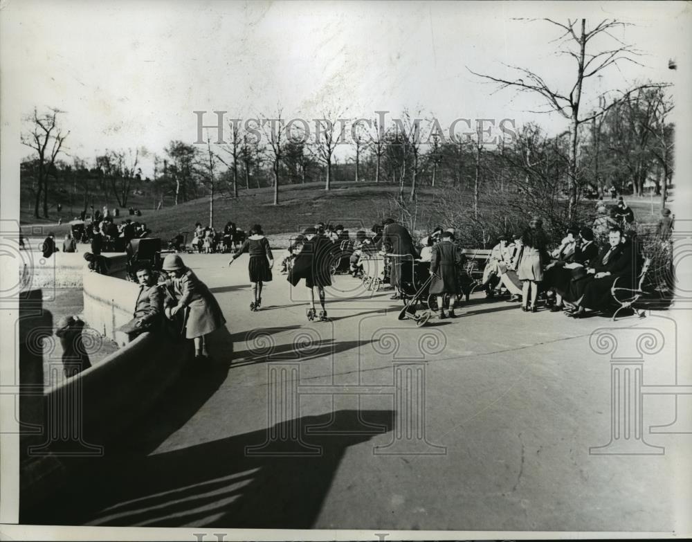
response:
M207 285L185 267L179 255L167 255L162 269L170 276L165 285L174 295L165 303L166 316L172 319L177 312L189 309L185 338L194 340L196 359L208 358L206 336L226 323L219 303Z

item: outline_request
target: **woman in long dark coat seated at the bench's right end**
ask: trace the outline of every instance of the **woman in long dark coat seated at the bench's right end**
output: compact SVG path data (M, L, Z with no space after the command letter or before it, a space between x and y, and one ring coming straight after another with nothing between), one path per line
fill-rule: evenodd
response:
M620 228L610 228L608 246L601 249L596 261L586 268L584 276L572 280L565 295L567 316L582 318L587 309L597 311L612 304L610 289L618 278L622 286L632 287L637 277L637 255L630 240Z

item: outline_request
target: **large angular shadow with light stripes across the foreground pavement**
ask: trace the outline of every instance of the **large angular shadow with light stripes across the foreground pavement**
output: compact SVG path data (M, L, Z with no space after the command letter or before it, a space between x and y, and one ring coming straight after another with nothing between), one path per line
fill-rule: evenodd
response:
M387 431L394 422L391 410L335 414L332 427L340 429L338 435L306 431L329 422L331 414L273 427L275 435L290 435L297 426L304 449L318 450L312 456L282 456L300 451L288 440L262 450L274 455L248 455L246 446L266 443L269 429L154 455L112 452L100 460L98 471L75 480L35 520L53 525L307 529L318 517L347 447L372 437L354 434L362 428L361 419Z

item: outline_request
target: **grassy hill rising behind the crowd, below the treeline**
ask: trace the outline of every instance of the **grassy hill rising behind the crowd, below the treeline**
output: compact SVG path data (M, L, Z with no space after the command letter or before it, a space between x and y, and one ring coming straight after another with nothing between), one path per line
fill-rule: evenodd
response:
M272 188L239 190L237 199L223 193L215 197L214 226L223 228L226 222L233 221L240 228L247 230L252 224L259 223L268 235L272 235L298 232L306 226L322 221L343 224L352 233L358 229L369 231L372 224L384 217L396 217L392 200L397 194L398 186L391 184L341 182L334 183L332 190L326 192L322 183L305 183L280 187L280 205L274 206ZM432 206L433 197L439 198L442 195L444 191L439 189L419 189L418 206L421 216L417 219L417 224L421 230L426 230L432 224L444 224L444 219L435 216ZM108 199L105 195L104 200L102 201L109 206L115 206L116 202L112 196ZM639 222L657 222L660 209L658 200L655 201L653 215L649 199L637 201L630 197L628 201ZM28 203L31 203L31 200ZM130 202L133 207L142 210L142 217L138 220L145 222L153 235L164 240L174 237L177 233L190 233L194 230L196 222L201 222L204 226L209 222L208 197L194 199L178 206L167 201L161 210L155 210L154 203L152 197L147 195L133 196ZM94 200L94 204L98 205L97 199ZM589 208L594 206L592 201L584 201L583 205ZM26 200L22 201L21 208L24 224L41 223L31 215ZM75 206L71 210L66 204L63 204L62 213L57 213L53 209L51 220L45 221L46 228L50 228L56 235L63 234L68 231L69 226L55 226L57 217L62 217L63 222L69 222L80 210L80 206ZM121 209L120 219L125 218L127 210ZM28 233L27 229L25 228L25 233Z

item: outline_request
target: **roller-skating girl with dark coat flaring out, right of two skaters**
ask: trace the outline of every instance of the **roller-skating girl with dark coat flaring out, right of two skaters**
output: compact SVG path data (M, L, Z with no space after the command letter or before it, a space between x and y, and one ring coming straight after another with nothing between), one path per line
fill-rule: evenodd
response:
M315 288L317 288L322 306L320 320L325 321L328 319L325 307L325 286L331 286L330 268L334 258L334 244L327 237L318 235L317 229L312 226L305 228L303 235L302 250L295 257L286 280L291 283L291 286L295 286L304 279L305 286L310 289L308 320L314 320L317 317L315 309Z

